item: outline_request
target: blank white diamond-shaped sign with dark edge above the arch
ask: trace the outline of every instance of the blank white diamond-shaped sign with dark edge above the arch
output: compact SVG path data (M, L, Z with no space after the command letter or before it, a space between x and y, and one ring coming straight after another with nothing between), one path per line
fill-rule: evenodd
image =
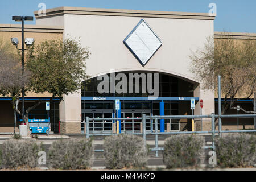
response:
M144 19L139 21L137 26L123 40L123 43L143 66L146 65L147 61L162 46L162 41Z

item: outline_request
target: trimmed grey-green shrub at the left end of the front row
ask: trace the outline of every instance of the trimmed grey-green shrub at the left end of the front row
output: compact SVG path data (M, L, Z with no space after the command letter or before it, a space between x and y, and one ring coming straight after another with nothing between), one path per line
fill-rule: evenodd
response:
M41 150L42 145L37 144L34 139L7 140L2 144L2 166L9 169L34 168Z

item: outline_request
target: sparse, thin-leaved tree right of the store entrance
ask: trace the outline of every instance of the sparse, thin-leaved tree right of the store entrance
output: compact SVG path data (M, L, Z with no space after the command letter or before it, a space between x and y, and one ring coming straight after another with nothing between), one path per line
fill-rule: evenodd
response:
M201 81L202 89L217 90L218 75L221 76L221 114L236 109L234 102L238 96L250 98L255 92L256 40L236 40L224 32L222 39L207 38L204 47L189 57L191 72Z

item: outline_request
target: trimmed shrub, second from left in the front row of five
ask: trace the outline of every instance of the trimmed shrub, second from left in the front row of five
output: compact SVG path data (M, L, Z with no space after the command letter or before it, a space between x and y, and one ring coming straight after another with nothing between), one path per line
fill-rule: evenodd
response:
M49 167L87 169L92 166L94 147L91 139L61 139L49 148Z

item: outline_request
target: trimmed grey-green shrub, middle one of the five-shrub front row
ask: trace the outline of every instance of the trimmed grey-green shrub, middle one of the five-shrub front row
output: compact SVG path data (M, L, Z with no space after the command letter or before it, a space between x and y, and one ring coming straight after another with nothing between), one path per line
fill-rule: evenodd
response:
M141 168L147 163L147 147L142 137L114 135L104 140L104 156L108 169Z

